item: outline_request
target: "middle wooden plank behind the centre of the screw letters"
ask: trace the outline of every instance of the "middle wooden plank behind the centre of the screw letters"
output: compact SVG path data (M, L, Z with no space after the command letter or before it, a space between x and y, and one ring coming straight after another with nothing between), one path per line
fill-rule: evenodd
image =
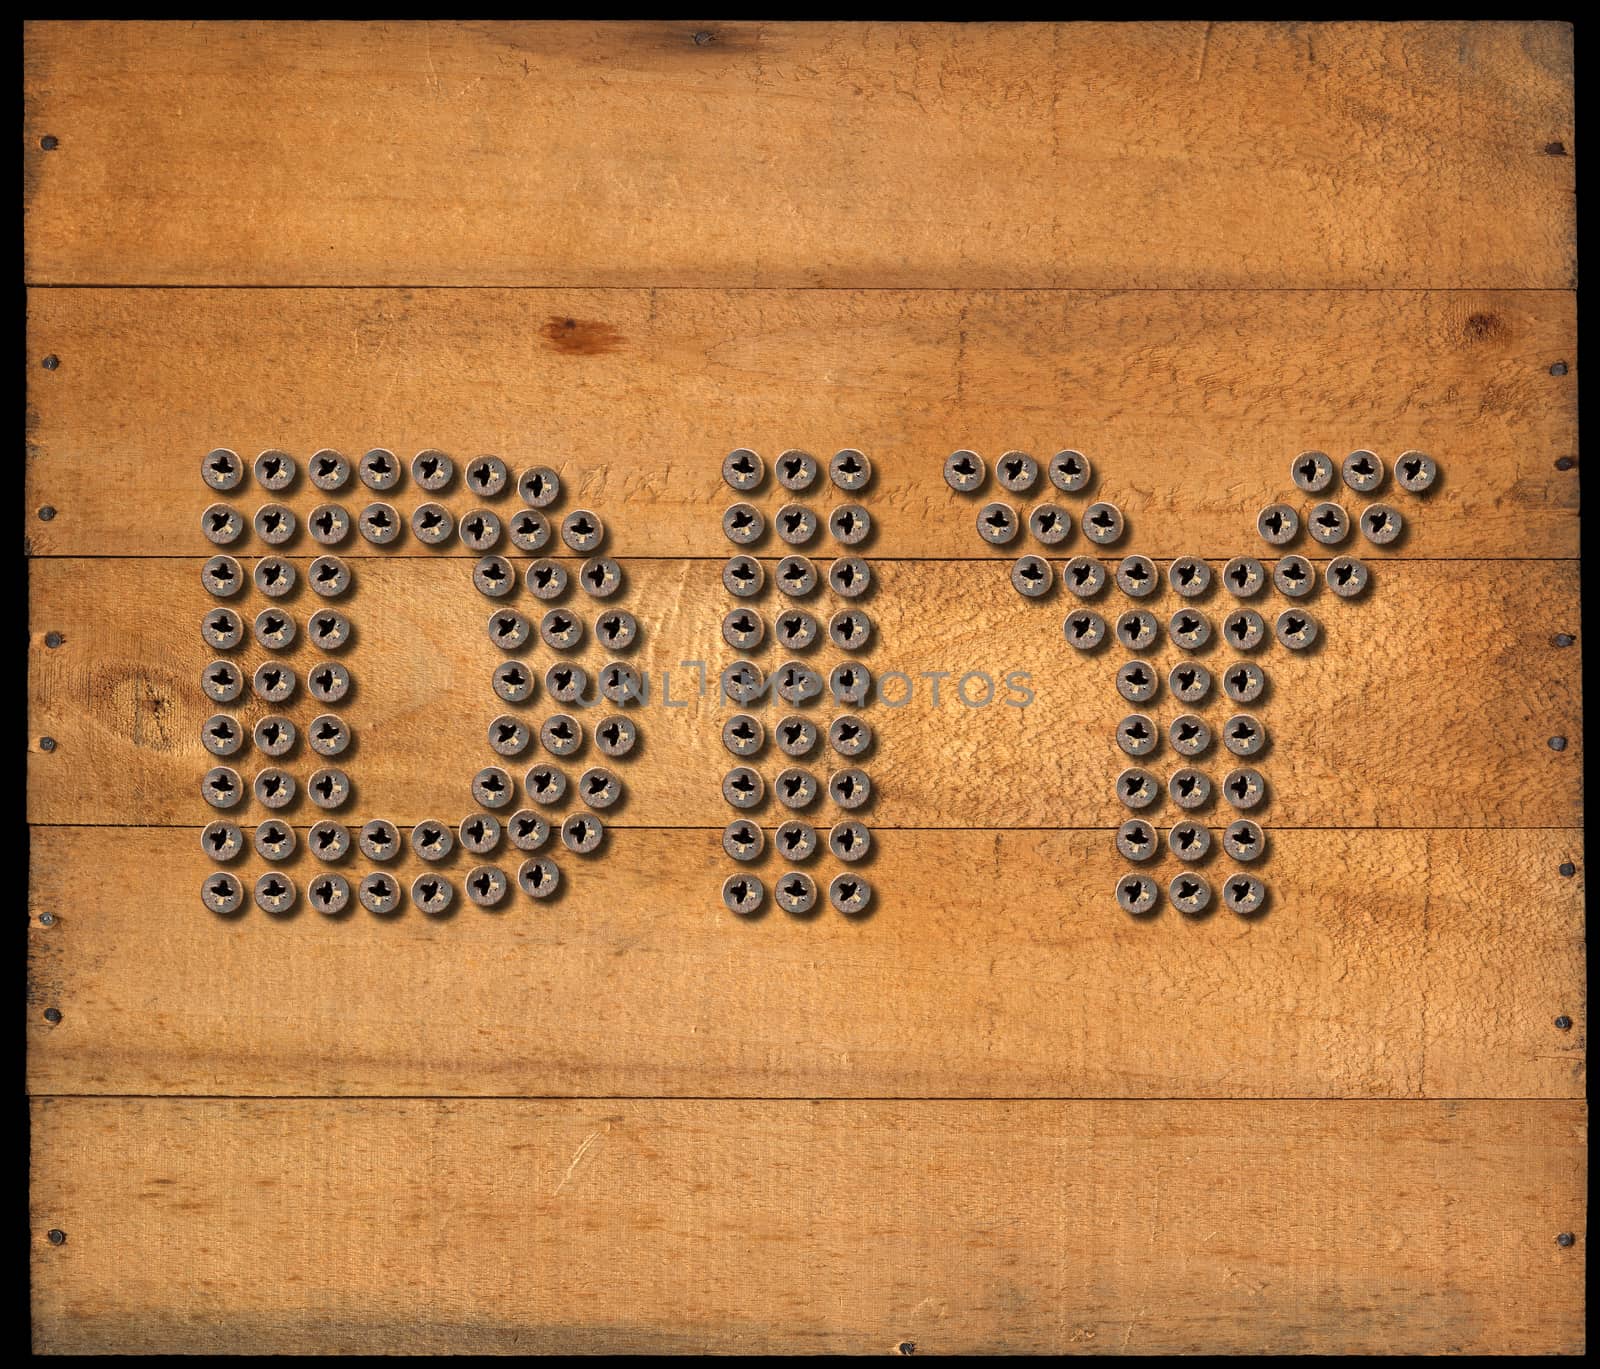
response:
M486 736L506 705L491 692L490 677L506 657L490 641L491 601L472 589L469 569L459 558L373 558L357 566L346 601L355 638L342 657L357 683L349 708L338 710L355 732L346 766L355 820L458 822L475 806L474 771L499 760ZM718 672L736 657L720 635L733 603L720 563L627 560L624 574L627 590L613 603L640 619L640 646L630 659L648 672L653 692L637 708L643 736L637 758L616 766L627 795L608 811L610 820L720 827L731 817L720 782L733 764L720 729L736 712L717 697ZM302 587L298 593L277 603L304 627L322 601ZM866 710L877 731L867 761L877 787L874 825L1114 827L1128 816L1112 788L1128 763L1114 742L1130 712L1114 688L1126 653L1083 656L1067 648L1061 624L1077 601L1062 598L1070 597L1022 600L998 561L877 563L877 590L867 600L877 637L861 659L880 677L904 672L907 680L888 681L888 697L909 694L909 702ZM520 600L530 611L542 608L526 593ZM198 560L34 563L30 820L198 827L216 816L200 795L200 777L213 764L200 731L214 712L200 677L214 653L198 632L214 603L200 584ZM242 603L248 621L267 600L254 595ZM1114 592L1101 608L1115 616L1126 603ZM1181 601L1163 589L1142 603L1166 622ZM1269 593L1259 606L1275 616L1285 603ZM1574 561L1395 561L1374 571L1365 600L1320 593L1310 603L1323 621L1320 649L1294 654L1274 645L1258 653L1272 681L1253 710L1272 739L1259 763L1270 787L1256 809L1262 822L1581 825L1581 659L1550 643L1554 632L1576 629ZM771 617L773 606L765 606ZM1226 595L1203 605L1216 624L1232 606ZM590 619L598 613L594 601L576 608ZM829 597L813 608L826 621ZM46 646L46 632L59 632L62 645ZM302 672L320 659L306 638L302 630L283 653ZM248 672L266 653L251 648L237 656ZM606 661L592 645L574 656L595 673ZM555 659L542 646L526 656L538 677ZM774 672L784 654L765 646L752 659ZM826 672L842 657L829 649L808 659ZM1147 659L1165 678L1187 657L1163 641ZM1221 673L1235 656L1213 643L1198 659ZM693 662L709 662L704 697L696 694ZM949 677L936 681L931 672ZM990 681L986 707L962 702L986 697L982 678L960 684L971 672ZM661 689L664 675L670 692ZM1014 707L1026 691L1032 702ZM1238 707L1221 686L1211 692L1198 712L1219 729ZM517 712L536 729L557 708L541 688ZM229 712L253 726L274 710L251 697ZM302 726L320 712L304 688L288 708ZM590 724L603 716L578 712ZM790 710L763 712L771 723ZM832 710L808 712L827 718ZM1165 728L1184 710L1163 692L1149 712ZM54 737L58 748L40 752L40 736ZM1552 750L1552 736L1565 736L1566 748ZM507 763L517 779L538 760L536 748ZM824 776L826 752L824 744L811 763ZM1221 748L1218 755L1202 768L1221 784L1234 761ZM237 760L246 776L261 764L248 747ZM309 752L290 760L302 782L320 763ZM1179 764L1170 752L1150 761L1162 776ZM781 763L786 758L768 745L760 761L768 784ZM570 763L571 777L579 768ZM835 820L827 803L816 811L819 820ZM259 809L245 804L234 812L254 820ZM301 793L285 816L310 822L320 814ZM768 796L762 816L776 825L784 811ZM1166 806L1150 816L1171 820Z

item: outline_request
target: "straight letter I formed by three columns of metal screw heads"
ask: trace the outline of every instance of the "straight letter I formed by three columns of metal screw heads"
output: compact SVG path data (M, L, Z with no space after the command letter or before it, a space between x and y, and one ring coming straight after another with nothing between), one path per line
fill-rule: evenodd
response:
M805 451L786 451L773 464L774 483L786 494L805 494L818 485L822 465ZM723 480L739 494L754 494L766 481L766 462L747 448L728 453L722 464ZM827 462L830 485L845 496L856 496L872 480L872 462L854 448L845 448ZM782 496L779 496L782 497ZM766 849L768 835L755 817L768 796L774 798L790 814L771 833L771 846L789 867L774 881L773 900L787 913L810 913L818 902L818 883L798 868L811 860L824 844L829 854L846 868L827 884L827 899L845 915L859 915L872 902L872 884L861 873L859 862L872 851L872 833L858 814L872 801L872 777L861 761L874 745L872 724L856 712L870 696L872 673L859 653L874 640L874 622L864 608L872 590L872 568L859 555L872 536L872 515L854 499L837 504L826 518L826 534L838 545L837 557L819 569L806 553L822 533L818 510L798 502L782 502L768 520L766 513L741 499L731 504L722 518L723 534L738 549L722 571L722 582L736 600L723 617L722 635L726 645L739 653L720 675L720 700L736 708L722 728L723 747L733 758L733 766L723 776L722 793L726 803L739 811L739 817L723 830L723 851L741 864L754 862ZM766 536L768 528L787 547L768 573L752 550ZM781 597L771 619L765 619L757 600L771 589ZM806 603L826 584L827 592L840 603L822 622ZM822 662L808 664L808 653L829 643L837 661L822 673ZM786 657L771 673L758 661L763 648L776 648ZM771 726L758 710L776 694L786 705L786 716ZM805 715L808 705L829 696L845 708L832 716L826 728ZM782 753L782 764L771 777L763 776L755 761L768 745ZM826 784L803 761L821 755L826 747L837 764ZM826 838L806 820L805 814L824 796L842 811ZM754 870L741 870L723 881L723 904L741 916L758 913L766 902L766 884Z

